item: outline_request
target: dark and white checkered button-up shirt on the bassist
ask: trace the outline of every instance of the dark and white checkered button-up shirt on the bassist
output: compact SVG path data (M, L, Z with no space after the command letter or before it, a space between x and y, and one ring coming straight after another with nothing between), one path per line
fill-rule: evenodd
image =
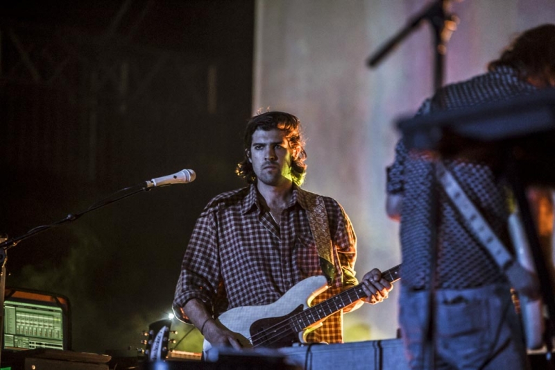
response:
M198 218L185 251L174 308L179 310L198 298L218 317L231 308L273 303L300 280L323 275L307 217L306 193L293 187L279 226L261 206L255 185L212 199ZM357 284L352 224L339 203L323 199L336 278L313 304ZM309 334L308 342L343 342L342 314L328 317Z

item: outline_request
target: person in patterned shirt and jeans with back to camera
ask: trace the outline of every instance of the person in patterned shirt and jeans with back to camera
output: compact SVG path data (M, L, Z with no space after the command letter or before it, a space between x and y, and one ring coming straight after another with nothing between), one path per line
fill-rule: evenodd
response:
M504 101L554 86L555 25L545 24L515 38L489 63L486 74L442 87L418 115ZM452 174L503 244L511 245L506 184L488 158L438 161L398 142L387 169L386 212L400 221L399 321L411 369L526 369L510 288L536 299L536 276L523 274L520 287L509 283L509 271L502 271L438 183L439 166ZM432 355L429 348L434 348Z

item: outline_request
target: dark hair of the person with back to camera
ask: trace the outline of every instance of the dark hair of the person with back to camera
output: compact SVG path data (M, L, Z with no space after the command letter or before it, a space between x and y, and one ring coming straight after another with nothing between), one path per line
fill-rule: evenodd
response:
M522 80L535 77L551 85L555 78L555 24L543 24L518 35L499 59L488 64L488 70L501 66L516 69Z

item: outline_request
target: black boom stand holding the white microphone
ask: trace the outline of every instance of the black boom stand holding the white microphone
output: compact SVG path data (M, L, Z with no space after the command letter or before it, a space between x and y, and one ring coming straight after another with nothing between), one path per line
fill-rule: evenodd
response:
M135 186L132 186L132 187L126 187L126 188L118 190L114 194L108 196L108 198L105 198L102 201L99 201L99 202L96 202L96 203L92 204L91 206L89 206L89 208L87 208L83 212L78 212L76 214L69 214L64 219L56 221L53 224L37 226L35 228L32 228L27 233L25 233L24 235L21 235L19 237L13 237L11 239L2 238L2 239L5 239L5 240L0 243L0 263L1 263L1 269L0 269L0 308L1 308L1 311L0 311L1 312L1 314L0 314L0 364L1 364L1 350L3 350L3 336L4 336L4 333L3 333L4 309L3 309L3 307L4 307L4 293L6 292L6 262L8 262L8 249L11 249L12 247L16 246L19 242L22 242L22 240L28 239L29 237L32 237L33 235L37 235L38 233L42 233L43 231L49 230L50 228L60 226L62 224L66 224L68 222L76 221L76 219L79 219L81 216L85 215L85 213L92 212L92 211L97 210L99 208L103 208L106 205L109 205L109 204L114 203L116 201L120 201L121 199L126 199L129 196L135 195L139 192L143 192L143 191L148 192L151 189L152 189L152 187L148 187L148 182L142 183L142 184L139 184L139 185L135 185ZM125 193L125 194L118 195L122 192ZM117 197L114 198L114 196L116 196L116 195L117 195Z

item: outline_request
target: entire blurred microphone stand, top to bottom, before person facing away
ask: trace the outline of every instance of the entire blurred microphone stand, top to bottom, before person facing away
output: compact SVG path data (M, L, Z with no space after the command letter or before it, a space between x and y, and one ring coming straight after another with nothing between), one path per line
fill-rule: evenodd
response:
M438 91L443 86L443 75L445 66L445 53L447 53L447 42L451 34L456 30L458 19L449 13L450 0L435 0L422 10L418 15L409 19L407 26L402 28L391 40L386 42L378 51L372 56L368 57L368 67L376 67L388 53L391 53L395 47L398 46L410 33L416 30L423 22L428 22L432 26L434 38L434 92ZM439 99L440 103L442 99ZM438 159L438 160L441 160ZM432 170L435 172L436 166L432 163ZM432 192L436 192L436 181L434 180L430 186ZM430 230L430 244L432 251L430 253L430 276L429 276L429 299L427 302L427 333L425 336L425 343L422 346L422 355L425 364L428 364L431 369L434 368L435 362L435 343L434 343L434 330L435 323L435 276L436 276L436 253L437 253L437 230L439 228L439 215L438 215L438 194L432 196L432 204L430 204L430 219L434 227Z

